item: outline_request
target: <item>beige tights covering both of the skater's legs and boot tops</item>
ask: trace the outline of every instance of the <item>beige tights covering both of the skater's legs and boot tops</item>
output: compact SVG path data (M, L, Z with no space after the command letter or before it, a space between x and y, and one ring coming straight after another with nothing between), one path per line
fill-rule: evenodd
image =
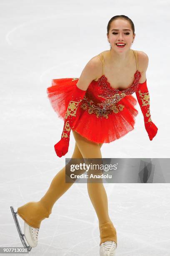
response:
M102 143L93 143L72 131L75 138L75 149L72 159L98 158L102 159L100 148ZM81 174L81 173L79 173ZM18 207L18 215L28 225L39 228L45 218L49 218L55 202L72 186L65 182L65 166L52 179L49 189L38 202L28 202ZM87 182L87 191L99 220L100 244L105 241L114 241L117 244L115 227L109 218L107 194L103 183Z

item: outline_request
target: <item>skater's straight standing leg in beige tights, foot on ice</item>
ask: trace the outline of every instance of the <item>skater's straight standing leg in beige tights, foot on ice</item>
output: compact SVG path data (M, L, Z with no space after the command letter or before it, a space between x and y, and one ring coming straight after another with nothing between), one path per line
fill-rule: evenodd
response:
M88 141L75 131L73 135L84 159L102 158L98 143ZM109 218L107 194L103 183L87 182L87 190L99 220L100 245L105 241L114 241L117 244L116 230Z

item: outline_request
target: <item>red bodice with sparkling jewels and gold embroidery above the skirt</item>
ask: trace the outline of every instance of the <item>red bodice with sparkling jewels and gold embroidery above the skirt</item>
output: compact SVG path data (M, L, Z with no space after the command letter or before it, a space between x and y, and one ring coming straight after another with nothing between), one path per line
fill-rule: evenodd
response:
M120 90L112 88L107 82L107 77L102 75L97 81L93 80L90 83L80 107L87 110L89 114L96 114L97 118L108 118L108 114L122 111L125 106L121 104L121 100L138 89L140 77L141 73L137 70L130 87Z

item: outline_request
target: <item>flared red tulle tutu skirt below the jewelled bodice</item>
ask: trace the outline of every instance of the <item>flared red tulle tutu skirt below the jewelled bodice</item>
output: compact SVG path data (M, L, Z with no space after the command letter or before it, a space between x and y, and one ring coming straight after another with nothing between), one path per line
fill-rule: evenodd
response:
M76 84L77 80L73 81L72 78L60 78L53 79L52 86L47 88L47 97L52 108L63 120ZM80 108L80 103L72 130L96 143L115 141L134 129L135 117L138 115L138 110L134 108L136 103L137 100L132 95L126 95L119 101L119 104L124 106L123 110L110 113L108 118L97 118L95 113L88 113L87 110ZM62 129L63 127L61 133Z

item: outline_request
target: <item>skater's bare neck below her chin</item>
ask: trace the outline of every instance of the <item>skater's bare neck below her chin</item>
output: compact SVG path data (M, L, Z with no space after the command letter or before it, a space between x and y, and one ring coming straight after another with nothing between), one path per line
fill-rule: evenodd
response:
M128 51L119 53L111 48L109 51L110 62L112 64L116 63L117 66L127 64L130 61L131 51L132 50L129 49Z

